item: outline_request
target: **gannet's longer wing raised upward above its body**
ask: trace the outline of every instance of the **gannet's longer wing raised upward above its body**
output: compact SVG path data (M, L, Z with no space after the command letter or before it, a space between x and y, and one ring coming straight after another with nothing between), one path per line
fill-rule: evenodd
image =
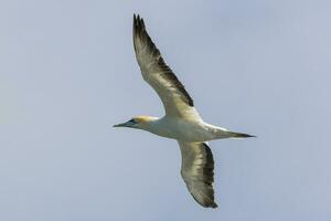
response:
M134 15L134 45L142 77L161 98L166 114L173 117L199 117L193 99L163 61L160 51L148 35L143 20Z

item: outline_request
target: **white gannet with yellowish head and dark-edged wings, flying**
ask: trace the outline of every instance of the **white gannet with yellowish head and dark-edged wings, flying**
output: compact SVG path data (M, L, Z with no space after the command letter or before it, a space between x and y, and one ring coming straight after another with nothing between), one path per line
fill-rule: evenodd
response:
M161 137L175 139L182 155L181 176L196 202L216 208L214 201L214 159L207 141L223 138L255 137L229 131L205 123L194 108L184 85L163 61L147 33L143 19L134 14L134 46L143 80L157 92L166 115L137 116L114 127L142 129Z

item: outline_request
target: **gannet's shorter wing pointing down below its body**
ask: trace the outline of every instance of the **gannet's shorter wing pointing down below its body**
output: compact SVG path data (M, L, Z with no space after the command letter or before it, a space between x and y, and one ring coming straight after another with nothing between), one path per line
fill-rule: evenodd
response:
M178 140L182 154L181 175L196 202L216 208L214 201L214 159L206 143Z

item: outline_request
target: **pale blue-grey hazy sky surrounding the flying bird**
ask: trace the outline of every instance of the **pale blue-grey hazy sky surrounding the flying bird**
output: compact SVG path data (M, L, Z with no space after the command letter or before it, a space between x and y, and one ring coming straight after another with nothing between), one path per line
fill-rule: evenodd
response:
M0 2L0 220L331 220L329 0ZM115 129L162 116L136 63L140 13L217 140L216 210L175 141Z

